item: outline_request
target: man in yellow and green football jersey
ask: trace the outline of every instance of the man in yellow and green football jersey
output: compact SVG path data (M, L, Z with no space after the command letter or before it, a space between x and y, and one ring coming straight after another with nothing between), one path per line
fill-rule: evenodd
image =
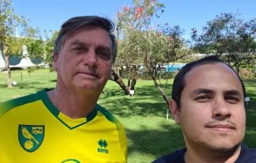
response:
M0 105L0 162L126 162L122 124L97 105L116 57L113 30L97 16L61 26L56 88Z

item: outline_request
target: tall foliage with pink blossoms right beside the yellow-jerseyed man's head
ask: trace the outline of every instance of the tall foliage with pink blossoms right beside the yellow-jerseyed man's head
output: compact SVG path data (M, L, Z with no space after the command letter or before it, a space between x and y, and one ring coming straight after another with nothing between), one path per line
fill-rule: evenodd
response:
M163 4L150 0L135 0L133 6L124 6L122 12L118 12L116 20L116 32L118 38L118 57L116 66L141 65L143 51L139 41L141 31L151 30L151 18L157 16Z

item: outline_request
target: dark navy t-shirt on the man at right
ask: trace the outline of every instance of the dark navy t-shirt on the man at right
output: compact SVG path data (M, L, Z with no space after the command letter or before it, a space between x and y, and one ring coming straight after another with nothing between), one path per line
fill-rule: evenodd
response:
M153 163L185 163L184 153L186 149L179 149L172 154L160 157L153 161ZM256 149L248 149L242 143L241 152L235 163L255 163L256 162Z

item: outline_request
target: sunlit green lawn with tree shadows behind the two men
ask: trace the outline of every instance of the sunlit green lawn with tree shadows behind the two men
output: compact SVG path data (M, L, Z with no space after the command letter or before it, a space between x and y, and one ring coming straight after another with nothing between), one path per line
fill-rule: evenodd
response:
M21 80L21 73L23 79ZM31 94L56 84L56 73L48 69L32 72L13 71L17 86L5 88L6 73L0 73L0 102ZM173 80L169 81L166 92L170 95ZM247 131L244 142L256 148L256 79L244 79L250 102L246 108ZM129 162L151 162L155 158L184 147L180 125L169 118L166 120L167 105L152 81L138 80L136 96L123 95L118 84L108 81L98 101L113 113L125 126L129 143Z

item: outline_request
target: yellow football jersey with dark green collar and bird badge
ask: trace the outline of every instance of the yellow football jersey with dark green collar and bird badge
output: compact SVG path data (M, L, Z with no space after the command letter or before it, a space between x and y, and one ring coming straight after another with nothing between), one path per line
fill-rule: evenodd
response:
M126 162L122 124L96 108L85 118L59 112L46 90L0 104L0 162Z

